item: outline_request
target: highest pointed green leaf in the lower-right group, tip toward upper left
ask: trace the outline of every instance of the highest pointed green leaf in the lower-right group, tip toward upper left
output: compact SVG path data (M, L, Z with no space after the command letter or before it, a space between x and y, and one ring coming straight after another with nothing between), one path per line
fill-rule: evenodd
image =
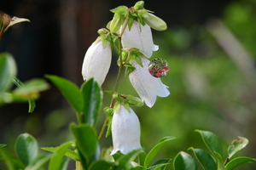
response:
M195 130L195 132L198 132L201 134L201 138L203 139L204 143L207 145L207 148L211 150L213 156L214 156L214 152L217 152L220 156L223 156L222 145L216 134L208 131L201 131L201 130Z

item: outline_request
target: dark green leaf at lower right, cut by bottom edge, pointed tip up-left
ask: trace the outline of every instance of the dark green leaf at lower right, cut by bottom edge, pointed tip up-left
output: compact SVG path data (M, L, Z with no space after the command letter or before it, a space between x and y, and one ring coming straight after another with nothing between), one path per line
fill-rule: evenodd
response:
M189 150L193 150L197 161L200 162L204 170L217 170L216 162L207 152L201 149L194 149L193 147L189 148Z

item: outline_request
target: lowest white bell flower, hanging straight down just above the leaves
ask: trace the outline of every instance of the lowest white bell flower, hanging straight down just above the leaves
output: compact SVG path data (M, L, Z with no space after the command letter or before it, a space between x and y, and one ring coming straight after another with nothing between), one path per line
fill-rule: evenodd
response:
M142 148L140 143L140 122L134 111L127 111L120 105L119 111L114 111L112 120L113 150L111 155L120 151L127 154L132 150Z

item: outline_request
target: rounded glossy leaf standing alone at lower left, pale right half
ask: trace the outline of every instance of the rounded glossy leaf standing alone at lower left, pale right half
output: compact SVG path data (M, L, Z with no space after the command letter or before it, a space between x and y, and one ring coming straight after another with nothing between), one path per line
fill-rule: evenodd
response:
M15 141L15 152L25 165L38 156L38 141L28 133L22 133Z

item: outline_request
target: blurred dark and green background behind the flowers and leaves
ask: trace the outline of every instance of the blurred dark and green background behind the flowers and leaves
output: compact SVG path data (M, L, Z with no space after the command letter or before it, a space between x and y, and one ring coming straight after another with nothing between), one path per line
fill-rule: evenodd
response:
M26 81L53 74L77 85L83 83L84 54L106 27L119 5L136 1L118 0L1 0L0 10L31 20L9 29L0 42L0 52L13 54L18 78ZM134 107L142 125L142 144L149 151L164 136L177 139L166 144L158 158L176 156L190 146L206 149L195 129L216 133L224 153L237 136L249 139L236 156L256 157L256 1L255 0L160 0L145 1L145 8L166 20L167 31L153 31L160 49L152 59L164 58L170 71L162 78L171 91L157 99L153 108ZM112 90L117 56L103 90ZM128 78L121 79L119 93L137 93ZM104 94L104 105L110 97ZM39 145L57 146L72 139L68 124L75 122L67 101L54 86L41 94L36 110L10 104L0 108L0 143L13 150L20 133L31 133ZM101 128L105 116L98 121ZM102 146L111 145L111 137ZM43 152L43 150L42 150ZM225 155L227 156L227 155ZM172 166L169 167L172 169ZM256 169L244 165L243 170Z

